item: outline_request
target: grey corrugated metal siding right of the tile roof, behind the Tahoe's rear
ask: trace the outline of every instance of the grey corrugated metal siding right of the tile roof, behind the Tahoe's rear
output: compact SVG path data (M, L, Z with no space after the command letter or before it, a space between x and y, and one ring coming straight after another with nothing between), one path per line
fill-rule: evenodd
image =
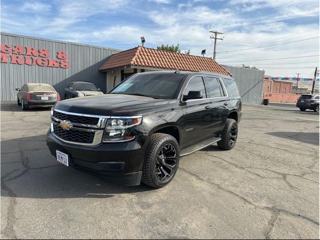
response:
M264 71L223 65L235 80L242 98L242 104L261 104Z

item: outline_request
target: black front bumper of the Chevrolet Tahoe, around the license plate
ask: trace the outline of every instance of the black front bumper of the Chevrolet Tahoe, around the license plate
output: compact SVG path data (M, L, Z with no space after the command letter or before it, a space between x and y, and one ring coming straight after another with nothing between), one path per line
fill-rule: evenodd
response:
M82 146L65 143L49 130L46 144L54 156L56 150L68 154L69 165L76 169L132 186L139 185L142 176L143 139L141 135L128 142Z

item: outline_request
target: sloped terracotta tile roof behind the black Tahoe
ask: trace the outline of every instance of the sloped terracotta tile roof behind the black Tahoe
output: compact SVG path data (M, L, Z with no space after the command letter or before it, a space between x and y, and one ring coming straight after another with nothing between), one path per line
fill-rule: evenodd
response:
M209 57L194 56L138 46L113 54L99 68L107 71L122 66L179 69L181 71L210 71L232 75L223 66Z

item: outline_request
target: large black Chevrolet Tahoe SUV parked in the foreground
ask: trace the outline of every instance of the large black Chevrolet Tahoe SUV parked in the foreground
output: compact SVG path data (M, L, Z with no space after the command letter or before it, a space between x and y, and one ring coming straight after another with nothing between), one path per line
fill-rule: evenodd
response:
M56 103L46 144L57 161L125 185L162 187L181 156L231 149L241 118L235 81L210 72L134 74L108 94Z

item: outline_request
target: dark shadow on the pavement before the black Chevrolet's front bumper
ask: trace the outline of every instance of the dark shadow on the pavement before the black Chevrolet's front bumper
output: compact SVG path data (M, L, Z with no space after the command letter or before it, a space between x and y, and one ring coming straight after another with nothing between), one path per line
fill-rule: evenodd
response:
M1 141L1 196L26 198L107 198L114 194L155 190L124 186L58 163L45 135Z

